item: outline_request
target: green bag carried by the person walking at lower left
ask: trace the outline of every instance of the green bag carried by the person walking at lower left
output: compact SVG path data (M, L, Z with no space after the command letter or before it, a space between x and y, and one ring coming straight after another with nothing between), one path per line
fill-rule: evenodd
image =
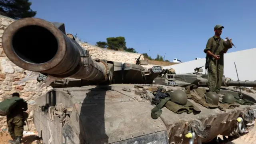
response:
M12 108L22 101L24 101L22 98L13 96L10 99L0 102L0 116L7 116Z

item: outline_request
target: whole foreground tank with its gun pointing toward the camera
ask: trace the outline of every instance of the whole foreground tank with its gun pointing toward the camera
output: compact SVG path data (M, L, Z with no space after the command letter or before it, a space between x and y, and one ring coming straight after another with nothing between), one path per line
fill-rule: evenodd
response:
M17 20L5 30L2 46L14 64L40 72L38 82L53 87L34 105L34 125L44 144L221 143L254 127L253 94L242 91L250 105L206 108L189 97L193 89L188 88L198 86L193 84L199 74L170 74L175 76L175 84L153 84L161 79L161 66L146 69L139 63L92 59L71 34L65 34L63 24L39 18ZM38 47L44 51L38 53ZM48 82L50 79L53 81ZM207 92L205 87L201 90ZM186 105L171 101L174 94L182 92L180 96L186 92ZM236 98L240 94L221 92ZM164 100L167 103L160 106ZM173 107L168 108L169 104ZM183 107L173 110L177 106ZM220 140L219 135L228 138Z

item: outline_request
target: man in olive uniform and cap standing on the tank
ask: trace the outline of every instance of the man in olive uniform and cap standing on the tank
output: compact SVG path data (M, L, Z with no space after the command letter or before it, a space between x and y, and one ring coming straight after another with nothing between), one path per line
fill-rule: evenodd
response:
M230 46L224 44L224 40L220 38L224 26L216 25L214 27L215 35L208 39L204 53L206 53L206 63L208 62L208 87L209 91L216 92L220 97L220 87L222 84L224 69L224 53L228 51ZM232 39L230 39L232 48Z

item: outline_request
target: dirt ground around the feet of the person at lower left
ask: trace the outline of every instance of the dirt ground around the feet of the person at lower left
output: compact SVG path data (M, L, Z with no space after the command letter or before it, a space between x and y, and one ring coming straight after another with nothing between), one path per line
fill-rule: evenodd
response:
M22 144L42 144L42 140L38 137L37 132L25 131L22 138ZM0 144L9 144L11 139L10 135L6 131L0 131Z

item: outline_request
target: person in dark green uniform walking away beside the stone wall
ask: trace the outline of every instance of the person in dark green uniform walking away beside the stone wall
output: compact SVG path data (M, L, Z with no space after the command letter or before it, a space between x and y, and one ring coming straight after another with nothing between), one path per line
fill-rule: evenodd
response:
M12 96L20 97L20 94L18 92L14 92ZM28 103L22 101L12 108L10 114L7 115L8 131L12 137L12 140L9 141L11 144L21 144L21 138L24 130L23 111L26 110L28 110Z

